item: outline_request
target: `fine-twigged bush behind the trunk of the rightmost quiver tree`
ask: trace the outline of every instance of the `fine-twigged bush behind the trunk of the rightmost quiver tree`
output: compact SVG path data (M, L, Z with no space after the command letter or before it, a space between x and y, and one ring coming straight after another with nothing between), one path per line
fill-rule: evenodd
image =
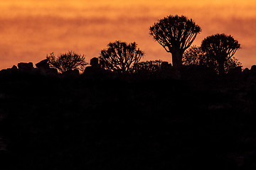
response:
M184 65L206 66L218 73L218 62L213 57L208 57L201 47L195 45L184 52L182 62ZM235 57L231 57L230 60L224 62L225 73L235 69L235 67L242 67L242 64Z

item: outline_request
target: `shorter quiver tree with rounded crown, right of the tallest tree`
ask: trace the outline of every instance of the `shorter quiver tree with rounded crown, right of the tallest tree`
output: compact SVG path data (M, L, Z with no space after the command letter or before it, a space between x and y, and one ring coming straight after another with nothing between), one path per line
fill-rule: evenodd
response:
M202 41L201 49L208 57L213 57L218 62L218 72L223 75L225 62L235 55L235 52L240 49L240 44L231 35L215 34Z

